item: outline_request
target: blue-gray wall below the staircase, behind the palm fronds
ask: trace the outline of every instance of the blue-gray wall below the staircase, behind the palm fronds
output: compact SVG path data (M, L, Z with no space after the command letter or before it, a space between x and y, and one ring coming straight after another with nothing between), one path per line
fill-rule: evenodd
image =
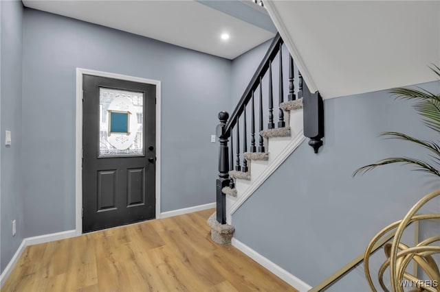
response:
M439 82L421 84L440 93ZM376 232L440 187L438 178L389 165L352 178L382 158L426 151L378 134L399 131L437 141L410 101L386 91L325 101L325 143L307 141L232 216L234 236L312 286L364 252ZM433 202L440 209L440 199ZM432 205L431 205L432 206Z

